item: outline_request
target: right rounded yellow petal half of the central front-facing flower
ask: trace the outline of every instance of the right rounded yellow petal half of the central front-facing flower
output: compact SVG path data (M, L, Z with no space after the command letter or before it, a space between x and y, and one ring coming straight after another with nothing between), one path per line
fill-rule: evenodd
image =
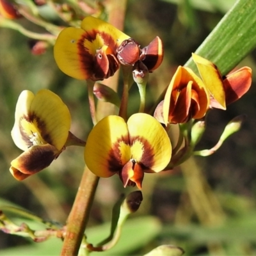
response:
M136 113L129 118L127 127L132 159L148 170L163 170L170 162L172 145L162 125L150 115Z

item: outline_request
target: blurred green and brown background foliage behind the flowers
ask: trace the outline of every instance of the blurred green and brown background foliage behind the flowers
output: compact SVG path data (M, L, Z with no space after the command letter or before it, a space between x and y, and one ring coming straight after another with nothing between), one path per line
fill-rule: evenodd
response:
M103 4L108 5L109 1ZM234 0L127 1L125 33L142 46L157 35L164 44L163 64L150 74L148 109L170 83L177 66L186 63L232 4ZM20 19L20 23L33 31L42 31L28 20ZM17 31L1 28L0 45L0 197L42 218L65 223L84 168L83 148L68 148L47 170L19 182L8 171L12 159L20 154L10 131L20 92L48 88L60 95L70 109L71 131L86 140L92 128L86 85L58 69L52 48L40 56L31 54L28 38ZM255 58L256 51L253 51L239 65L252 68L253 81ZM253 84L227 111L210 111L207 131L198 149L213 147L225 125L235 116L242 113L248 116L241 131L228 138L215 154L190 159L172 172L146 175L143 203L126 225L130 230L125 234L131 238L121 239L118 246L122 250L111 255L142 255L160 244L180 246L185 255L256 254L255 93ZM138 99L134 85L129 98L130 113L137 111ZM131 190L122 188L117 176L100 179L89 223L92 232L97 230L93 228L95 225L111 220L111 208L120 193ZM134 222L132 229L134 217L140 218L134 219L138 222ZM148 236L141 240L140 233L147 232ZM100 230L96 233L99 235ZM44 255L46 247L52 250L45 255L54 254L54 248L58 254L60 242L53 241L47 242L49 246L39 245L1 232L0 255L23 255L20 247L15 246L26 246L24 255L35 255L29 248L37 248L38 255ZM4 250L10 247L12 250Z

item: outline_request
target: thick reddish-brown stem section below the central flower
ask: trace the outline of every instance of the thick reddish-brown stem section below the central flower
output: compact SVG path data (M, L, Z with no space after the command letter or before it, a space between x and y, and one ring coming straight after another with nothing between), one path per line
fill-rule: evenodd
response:
M67 220L61 256L77 255L84 236L84 230L89 219L99 177L86 167L81 179L76 199Z

